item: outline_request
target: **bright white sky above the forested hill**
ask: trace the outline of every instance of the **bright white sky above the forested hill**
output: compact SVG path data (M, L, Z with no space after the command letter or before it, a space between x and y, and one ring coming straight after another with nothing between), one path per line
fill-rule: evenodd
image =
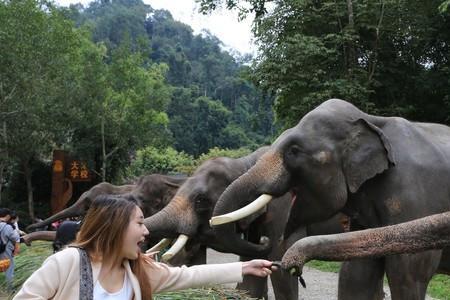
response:
M55 0L61 6L82 3L86 5L90 0ZM218 9L210 15L198 13L198 4L194 0L143 0L155 9L170 11L177 21L189 24L194 34L199 34L202 29L209 30L217 36L226 49L232 48L241 54L256 52L252 42L251 23L249 18L238 21L237 12Z

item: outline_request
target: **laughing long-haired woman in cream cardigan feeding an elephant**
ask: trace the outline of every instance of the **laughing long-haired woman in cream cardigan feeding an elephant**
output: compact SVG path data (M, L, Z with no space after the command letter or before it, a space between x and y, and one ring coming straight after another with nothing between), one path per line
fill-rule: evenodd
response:
M272 263L252 260L194 267L168 267L141 254L148 235L142 210L133 200L98 197L72 247L49 258L14 299L152 299L152 294L207 284L265 277Z

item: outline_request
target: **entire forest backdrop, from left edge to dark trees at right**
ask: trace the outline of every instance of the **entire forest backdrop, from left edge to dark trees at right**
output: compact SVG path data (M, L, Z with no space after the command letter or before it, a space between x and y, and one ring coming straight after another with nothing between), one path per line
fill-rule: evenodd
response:
M0 0L1 205L48 214L53 149L96 181L192 170L210 149L270 143L333 97L450 124L449 1L197 2L254 17L257 57L141 0Z

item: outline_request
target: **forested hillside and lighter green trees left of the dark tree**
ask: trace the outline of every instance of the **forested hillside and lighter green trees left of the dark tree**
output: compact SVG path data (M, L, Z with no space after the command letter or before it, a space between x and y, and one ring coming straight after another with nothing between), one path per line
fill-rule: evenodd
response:
M52 149L118 183L139 175L127 168L139 149L193 160L254 149L274 132L274 98L249 80L249 58L168 11L140 0L0 1L0 23L2 201L30 216L49 200Z

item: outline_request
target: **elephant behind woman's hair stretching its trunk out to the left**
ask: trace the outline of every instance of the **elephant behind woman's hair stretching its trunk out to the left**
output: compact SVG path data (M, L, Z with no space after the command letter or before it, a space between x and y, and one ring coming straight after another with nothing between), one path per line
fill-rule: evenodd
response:
M151 174L140 177L136 184L116 186L108 182L102 182L84 192L70 207L42 222L29 225L27 231L47 226L57 220L84 215L91 202L98 195L103 194L130 194L142 204L144 215L150 216L160 211L167 204L185 179L185 177L180 176Z

